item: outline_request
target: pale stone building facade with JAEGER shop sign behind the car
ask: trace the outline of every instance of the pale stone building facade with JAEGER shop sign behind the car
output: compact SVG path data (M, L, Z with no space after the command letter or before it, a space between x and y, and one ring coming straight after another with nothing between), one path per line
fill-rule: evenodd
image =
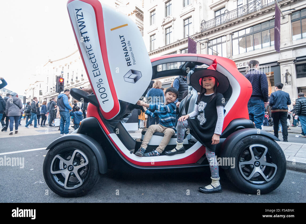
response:
M197 53L230 58L245 74L259 61L269 93L282 82L292 99L306 94L306 1L278 0L280 53L274 50L274 0L151 0L144 4L144 41L150 58L188 52L187 35ZM159 69L179 68L168 63ZM169 82L165 83L168 87ZM166 86L165 85L165 86Z

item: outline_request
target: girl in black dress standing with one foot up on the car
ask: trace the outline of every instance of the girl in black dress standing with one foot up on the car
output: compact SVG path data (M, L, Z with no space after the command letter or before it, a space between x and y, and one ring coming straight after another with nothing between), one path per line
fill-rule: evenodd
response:
M185 152L184 134L185 128L189 128L190 133L205 146L206 157L210 164L212 182L210 185L200 187L200 191L203 193L222 192L215 149L222 132L224 98L221 93L217 92L219 83L214 76L202 77L199 82L201 83L201 91L195 110L178 119L177 145L175 149L165 153L171 156ZM196 119L188 119L193 117Z

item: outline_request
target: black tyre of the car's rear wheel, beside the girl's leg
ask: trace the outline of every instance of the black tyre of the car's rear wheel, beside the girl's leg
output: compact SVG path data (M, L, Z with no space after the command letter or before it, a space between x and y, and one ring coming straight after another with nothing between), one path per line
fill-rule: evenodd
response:
M262 145L267 148L266 156L263 156L265 148L262 146L253 146L253 145ZM248 163L248 161L252 160L252 154L250 153L250 146L252 146L252 151L254 154L255 160L261 160L262 156L265 158L265 161L270 165L262 165L258 166L258 162L253 163L254 165ZM258 157L256 157L258 156ZM230 181L237 186L239 189L250 193L250 194L266 194L273 190L275 190L283 181L286 174L286 158L282 148L272 139L262 136L262 135L249 135L241 140L239 140L236 145L233 147L231 153L231 158L235 158L235 168L228 168L225 170L227 177ZM256 159L257 158L257 159ZM259 159L258 159L259 158ZM261 160L263 161L263 160ZM259 162L259 164L261 163ZM248 163L248 164L245 164ZM266 164L266 163L262 163ZM273 164L276 165L273 167ZM241 169L239 168L241 166ZM262 173L269 180L265 180L263 175L259 172L255 172L252 177L251 174L253 169L260 169ZM275 172L276 170L276 172ZM249 174L247 176L247 174ZM270 178L269 178L270 174ZM273 176L274 174L274 176ZM256 176L257 175L257 176ZM247 180L246 178L251 178Z

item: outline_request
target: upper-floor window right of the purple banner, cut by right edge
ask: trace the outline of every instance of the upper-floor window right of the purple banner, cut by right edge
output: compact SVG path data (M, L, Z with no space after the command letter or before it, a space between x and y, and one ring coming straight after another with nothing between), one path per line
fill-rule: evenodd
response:
M291 14L292 40L306 38L306 9Z

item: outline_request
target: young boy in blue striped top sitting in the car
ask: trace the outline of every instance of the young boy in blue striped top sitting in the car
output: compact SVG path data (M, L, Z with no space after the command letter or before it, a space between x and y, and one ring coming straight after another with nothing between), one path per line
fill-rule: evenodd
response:
M159 156L162 151L164 151L165 147L171 139L171 136L176 131L176 105L174 104L174 101L177 99L177 96L177 89L175 89L174 87L170 87L165 92L165 103L162 105L146 104L144 101L137 101L137 105L144 106L145 113L148 116L152 118L159 116L159 124L153 124L148 128L146 134L144 135L144 140L142 141L140 149L135 152L135 155ZM147 110L146 107L155 111L152 113L151 111ZM162 138L162 141L160 142L156 150L144 153L154 132L163 133L164 137Z

